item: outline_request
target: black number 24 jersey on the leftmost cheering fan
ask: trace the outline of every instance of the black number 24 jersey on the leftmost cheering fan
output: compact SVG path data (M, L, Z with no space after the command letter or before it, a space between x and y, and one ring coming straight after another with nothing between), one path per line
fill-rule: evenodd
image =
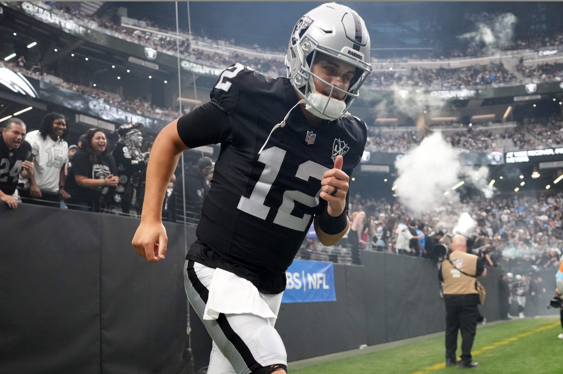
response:
M25 140L15 149L8 149L2 133L0 133L0 190L7 195L16 192L17 180L21 172L21 163L32 150L32 146Z

